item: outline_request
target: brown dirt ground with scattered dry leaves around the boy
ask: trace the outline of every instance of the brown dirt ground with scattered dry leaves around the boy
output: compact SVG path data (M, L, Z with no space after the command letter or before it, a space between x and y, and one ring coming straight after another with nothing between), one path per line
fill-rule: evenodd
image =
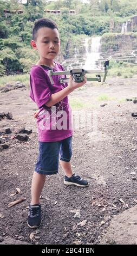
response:
M99 244L106 234L114 215L131 208L137 202L137 119L131 116L137 104L125 101L137 96L137 76L112 78L103 86L87 84L73 92L71 100L83 99L91 103L90 110L97 114L97 130L76 130L73 137L74 172L89 181L89 187L80 188L63 184L63 170L47 177L42 192L42 225L30 239L33 230L27 226L27 206L37 160L38 142L35 103L29 99L29 89L0 93L0 112L12 112L13 119L2 119L1 128L10 127L6 135L9 148L0 153L1 210L0 236L12 237L26 243L39 244ZM108 101L96 99L107 94ZM102 103L108 103L100 107ZM17 127L32 129L27 142L11 139ZM1 136L0 136L1 137ZM21 193L10 196L20 188ZM11 208L16 199L25 200ZM76 214L79 212L80 214ZM78 215L78 217L74 217ZM15 242L16 243L16 242Z

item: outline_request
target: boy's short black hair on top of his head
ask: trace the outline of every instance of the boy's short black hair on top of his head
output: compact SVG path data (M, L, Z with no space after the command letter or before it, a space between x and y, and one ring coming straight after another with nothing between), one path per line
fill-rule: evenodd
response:
M48 27L51 29L56 28L58 30L57 25L54 21L42 18L40 20L37 20L34 24L34 28L32 30L32 39L33 40L37 39L37 31L38 31L38 29L40 29L42 27Z

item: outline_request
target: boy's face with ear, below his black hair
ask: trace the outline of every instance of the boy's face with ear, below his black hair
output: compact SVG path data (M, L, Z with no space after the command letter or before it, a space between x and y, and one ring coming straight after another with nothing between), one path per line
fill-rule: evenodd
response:
M31 41L31 46L38 50L40 58L54 59L60 51L60 35L56 28L42 27L37 31L36 41Z

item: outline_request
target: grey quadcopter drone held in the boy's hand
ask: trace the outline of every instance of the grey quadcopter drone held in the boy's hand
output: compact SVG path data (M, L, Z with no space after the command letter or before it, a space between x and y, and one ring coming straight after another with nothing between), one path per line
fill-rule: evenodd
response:
M102 69L94 69L94 70L84 70L84 69L71 69L71 70L64 70L64 71L56 71L53 72L53 69L50 69L48 72L48 76L52 85L54 85L53 77L57 75L71 75L73 77L73 81L76 83L81 83L84 80L84 75L86 74L97 74L96 77L87 77L87 81L98 81L101 82L100 73L105 73L103 76L103 83L106 80L107 76L107 66L109 66L109 60L103 64ZM69 78L59 78L60 83L68 83Z

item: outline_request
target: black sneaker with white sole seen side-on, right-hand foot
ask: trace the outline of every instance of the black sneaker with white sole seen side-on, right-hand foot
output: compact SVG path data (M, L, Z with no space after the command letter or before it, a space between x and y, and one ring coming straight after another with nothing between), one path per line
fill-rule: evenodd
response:
M88 181L83 180L79 175L74 173L70 178L68 178L67 176L64 177L64 184L65 185L76 185L79 187L87 187Z

